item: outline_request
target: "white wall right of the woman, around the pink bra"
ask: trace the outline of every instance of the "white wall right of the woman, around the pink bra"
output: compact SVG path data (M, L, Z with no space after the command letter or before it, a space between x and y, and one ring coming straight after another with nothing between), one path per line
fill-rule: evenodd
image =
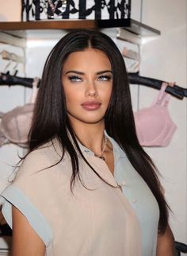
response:
M161 30L161 36L141 46L142 76L187 87L187 2L143 0L142 21ZM140 87L139 108L149 107L158 92ZM169 146L147 149L162 174L166 199L173 213L170 225L175 239L187 242L187 99L170 98L170 117L177 125Z

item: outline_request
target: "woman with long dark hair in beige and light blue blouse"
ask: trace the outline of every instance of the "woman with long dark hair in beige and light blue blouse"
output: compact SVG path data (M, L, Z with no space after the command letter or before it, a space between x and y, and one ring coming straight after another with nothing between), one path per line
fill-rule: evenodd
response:
M97 31L68 33L41 81L29 153L2 192L13 256L155 256L167 205L119 49Z

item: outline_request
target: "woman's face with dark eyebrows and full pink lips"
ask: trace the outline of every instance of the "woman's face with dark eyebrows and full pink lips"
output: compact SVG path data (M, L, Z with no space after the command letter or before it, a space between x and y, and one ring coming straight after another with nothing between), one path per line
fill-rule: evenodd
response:
M62 81L71 123L104 122L113 88L112 67L104 52L72 52L63 65Z

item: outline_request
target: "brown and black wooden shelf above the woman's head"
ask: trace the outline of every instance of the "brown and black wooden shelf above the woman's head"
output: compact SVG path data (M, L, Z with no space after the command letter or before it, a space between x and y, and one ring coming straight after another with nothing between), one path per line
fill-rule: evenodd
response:
M57 30L70 29L112 29L120 28L123 34L128 31L133 37L160 35L160 31L144 25L133 19L115 20L48 20L48 21L20 21L20 22L0 22L0 31L16 37L27 38L30 31L36 32L38 37L48 33L57 34ZM53 32L52 32L53 31ZM0 40L1 41L1 40Z

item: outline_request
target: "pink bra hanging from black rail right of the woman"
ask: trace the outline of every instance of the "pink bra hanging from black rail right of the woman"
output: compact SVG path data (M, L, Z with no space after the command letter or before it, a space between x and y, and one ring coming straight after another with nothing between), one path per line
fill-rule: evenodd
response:
M162 83L158 99L151 107L134 113L136 133L142 146L169 145L177 129L167 109L170 100L170 95L165 91L167 85Z

